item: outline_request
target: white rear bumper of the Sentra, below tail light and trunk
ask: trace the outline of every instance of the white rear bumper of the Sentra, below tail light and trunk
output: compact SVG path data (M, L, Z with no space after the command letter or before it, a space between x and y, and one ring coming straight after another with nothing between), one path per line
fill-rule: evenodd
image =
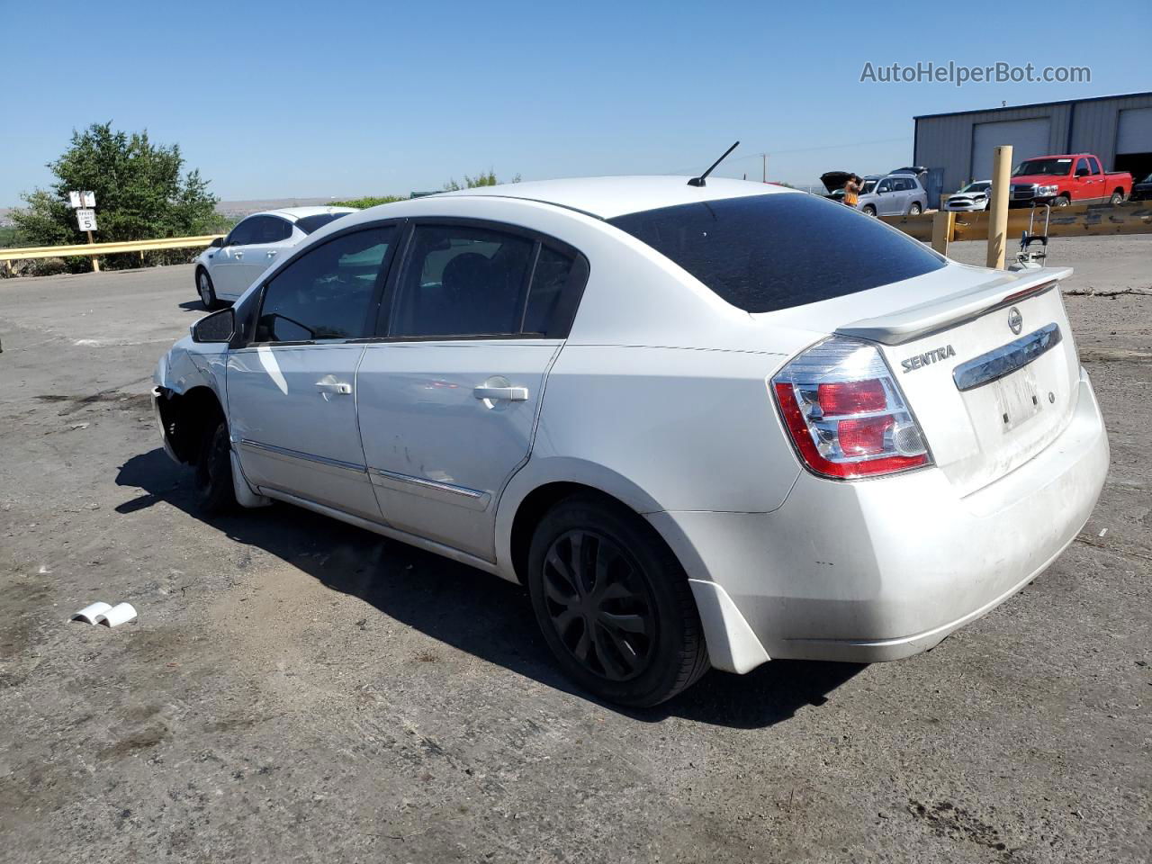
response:
M897 660L937 645L1039 575L1087 521L1107 470L1104 420L1082 370L1076 412L1060 438L965 498L934 469L859 483L802 472L773 513L650 520L692 579L715 583L732 600L720 623L705 617L720 668L746 672L765 653ZM763 652L742 647L749 635Z

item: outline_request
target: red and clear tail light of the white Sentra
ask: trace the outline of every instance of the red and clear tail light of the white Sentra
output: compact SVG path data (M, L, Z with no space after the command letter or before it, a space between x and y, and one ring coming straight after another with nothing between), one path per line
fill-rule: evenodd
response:
M806 467L851 479L932 463L927 444L876 347L833 336L772 379L785 425Z

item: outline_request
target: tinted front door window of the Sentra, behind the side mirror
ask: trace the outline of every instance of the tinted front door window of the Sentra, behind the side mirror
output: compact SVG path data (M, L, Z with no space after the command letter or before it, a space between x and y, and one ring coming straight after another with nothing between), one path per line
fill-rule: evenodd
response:
M358 339L394 228L370 228L321 243L278 273L264 293L257 342Z

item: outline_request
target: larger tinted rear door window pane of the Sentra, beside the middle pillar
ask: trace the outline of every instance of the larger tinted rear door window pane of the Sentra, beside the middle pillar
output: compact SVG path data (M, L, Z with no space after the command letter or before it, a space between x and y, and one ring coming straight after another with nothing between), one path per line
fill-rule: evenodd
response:
M417 226L391 335L518 333L532 247L486 228Z

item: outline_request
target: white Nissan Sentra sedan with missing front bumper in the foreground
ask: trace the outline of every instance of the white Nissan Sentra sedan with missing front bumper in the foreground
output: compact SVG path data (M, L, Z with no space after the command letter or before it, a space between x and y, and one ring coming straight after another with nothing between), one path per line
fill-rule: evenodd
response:
M526 586L627 705L909 657L1087 520L1108 445L1059 281L772 185L518 183L311 235L156 372L206 510L271 499Z

